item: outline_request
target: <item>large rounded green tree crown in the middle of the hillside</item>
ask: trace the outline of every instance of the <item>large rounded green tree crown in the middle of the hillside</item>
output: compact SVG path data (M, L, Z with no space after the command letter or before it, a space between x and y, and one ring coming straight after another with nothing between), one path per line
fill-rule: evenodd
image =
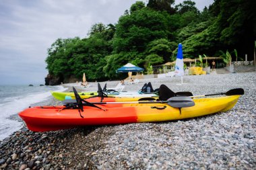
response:
M167 38L164 15L146 8L120 17L116 28L113 47L117 53L122 51L143 52L148 42Z

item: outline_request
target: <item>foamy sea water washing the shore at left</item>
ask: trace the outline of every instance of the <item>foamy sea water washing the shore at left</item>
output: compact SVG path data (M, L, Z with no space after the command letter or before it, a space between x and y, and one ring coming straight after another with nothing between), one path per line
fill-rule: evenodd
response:
M22 128L13 117L30 105L50 99L50 91L65 91L59 86L0 85L0 140Z

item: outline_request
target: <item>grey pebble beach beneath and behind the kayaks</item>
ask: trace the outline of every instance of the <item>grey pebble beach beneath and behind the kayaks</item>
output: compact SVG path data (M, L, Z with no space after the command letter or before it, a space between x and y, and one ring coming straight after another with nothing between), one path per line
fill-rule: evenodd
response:
M167 85L193 95L243 88L228 112L187 120L85 126L54 132L24 128L0 142L0 169L255 169L256 73L140 79L124 91ZM115 87L119 81L100 82ZM76 84L65 84L71 87ZM96 91L97 83L77 91ZM40 105L61 105L53 97ZM22 120L20 120L22 121Z

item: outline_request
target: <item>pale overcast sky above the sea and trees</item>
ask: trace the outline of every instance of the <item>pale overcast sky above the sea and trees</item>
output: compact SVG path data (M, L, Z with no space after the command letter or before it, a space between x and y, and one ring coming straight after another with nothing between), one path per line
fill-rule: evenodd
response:
M84 38L92 24L115 24L135 1L0 0L0 85L44 84L47 48L57 38ZM213 2L195 0L199 10Z

